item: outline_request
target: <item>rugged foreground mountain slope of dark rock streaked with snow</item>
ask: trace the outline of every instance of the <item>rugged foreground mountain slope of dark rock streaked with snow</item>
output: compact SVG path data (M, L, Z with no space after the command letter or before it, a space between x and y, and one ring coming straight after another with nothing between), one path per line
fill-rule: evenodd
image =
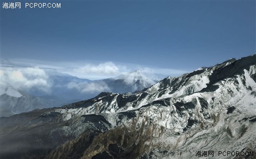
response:
M4 158L199 158L256 155L256 55L231 59L138 94L101 93L1 118Z

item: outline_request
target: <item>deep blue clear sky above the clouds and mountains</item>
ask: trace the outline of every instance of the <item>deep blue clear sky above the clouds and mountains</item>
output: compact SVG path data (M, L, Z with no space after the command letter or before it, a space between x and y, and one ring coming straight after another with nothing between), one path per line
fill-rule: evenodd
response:
M177 75L255 53L255 1L20 2L1 7L1 58L80 77L105 66L118 71L94 78L138 68Z

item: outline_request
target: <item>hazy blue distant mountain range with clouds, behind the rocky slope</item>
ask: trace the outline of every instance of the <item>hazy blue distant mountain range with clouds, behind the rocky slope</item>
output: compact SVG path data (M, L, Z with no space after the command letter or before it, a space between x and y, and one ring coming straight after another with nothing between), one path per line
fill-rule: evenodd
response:
M1 76L1 108L15 114L60 107L95 97L102 91L140 91L161 79L153 72L136 70L115 78L90 81L56 70L15 65L7 59L1 61ZM8 115L1 113L1 116Z

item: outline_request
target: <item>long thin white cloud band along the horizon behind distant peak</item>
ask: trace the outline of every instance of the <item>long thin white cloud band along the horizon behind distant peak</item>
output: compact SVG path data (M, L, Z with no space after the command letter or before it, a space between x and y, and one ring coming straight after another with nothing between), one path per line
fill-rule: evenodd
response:
M100 80L103 78L116 77L123 73L128 73L136 69L156 74L178 76L191 70L179 70L170 68L157 68L155 66L143 66L132 63L100 62L100 61L38 61L28 59L14 59L11 62L21 66L37 66L41 69L56 70L61 73L68 73L79 78L89 80ZM85 64L86 63L86 64Z

